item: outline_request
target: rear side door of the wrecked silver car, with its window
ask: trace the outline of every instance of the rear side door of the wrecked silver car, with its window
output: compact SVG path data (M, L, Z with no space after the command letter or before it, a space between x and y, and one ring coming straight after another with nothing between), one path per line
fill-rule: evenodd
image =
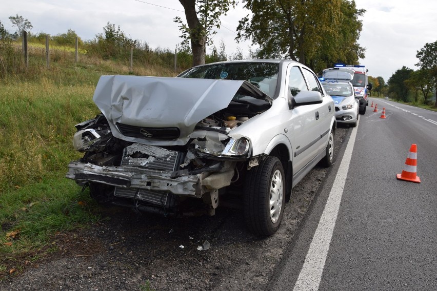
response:
M310 88L310 90L320 92L323 96L324 91L322 90L322 85L320 84L319 79L317 79L314 73L306 68L302 68L302 71L308 82L308 87ZM317 127L317 135L321 137L320 140L316 143L317 151L315 155L319 154L326 147L329 137L329 130L331 128L332 112L335 110L332 99L330 97L323 96L322 100L322 103L313 105L316 116L315 122Z

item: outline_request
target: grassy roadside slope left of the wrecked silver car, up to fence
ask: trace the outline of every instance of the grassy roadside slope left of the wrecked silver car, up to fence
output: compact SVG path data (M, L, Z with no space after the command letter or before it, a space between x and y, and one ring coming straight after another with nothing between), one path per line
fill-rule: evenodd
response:
M174 76L153 61L103 60L74 50L31 45L29 67L19 46L3 56L0 74L0 280L17 274L26 261L52 251L57 232L87 227L99 219L89 191L65 178L74 151L74 125L95 117L92 101L101 75ZM83 53L83 52L82 52ZM143 286L150 288L148 282Z

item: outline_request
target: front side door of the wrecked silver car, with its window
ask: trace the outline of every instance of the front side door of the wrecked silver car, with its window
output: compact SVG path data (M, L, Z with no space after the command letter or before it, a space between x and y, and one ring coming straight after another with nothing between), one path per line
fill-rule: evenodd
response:
M287 84L287 83L286 83ZM308 91L308 82L305 81L303 68L299 65L290 65L288 70L288 86L290 94L295 96L300 91ZM317 154L320 143L320 113L319 105L297 106L290 110L290 130L288 138L293 149L293 173L302 170ZM319 117L317 117L319 114Z

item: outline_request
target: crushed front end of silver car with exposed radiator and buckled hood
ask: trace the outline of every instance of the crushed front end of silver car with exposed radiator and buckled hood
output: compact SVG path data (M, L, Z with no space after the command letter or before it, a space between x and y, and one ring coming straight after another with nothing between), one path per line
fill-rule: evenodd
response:
M175 94L175 90L181 90L171 86L174 78L115 77L122 78L122 81L118 80L118 85L117 78L103 78L103 82L101 79L97 85L94 101L102 113L76 125L73 146L85 154L80 160L69 163L66 177L75 180L84 189L89 186L91 196L100 203L140 210L154 207L167 213L181 210L182 205L196 198L194 200L200 201L207 213L214 214L219 190L244 175L238 169L244 169L242 165L247 163L251 151L249 139L228 136L231 128L226 120L231 115L235 116L237 122L234 126L240 126L269 108L270 103L265 102L249 110L246 104L229 106L234 94L241 91L242 82L233 82L232 91L225 92L226 96L231 96L224 102L222 100L221 105L215 108L210 108L210 105L205 110L207 106L202 103L208 103L208 96L200 92L198 97L192 97L194 100L189 100L192 106L180 106L177 113L167 118L175 118L174 115L179 114L182 120L173 125L166 120L155 120L153 114L168 110L169 103L162 102L160 98L166 99ZM132 78L133 84L126 86L126 83L132 83ZM140 89L149 92L148 96L138 93L140 89L138 86L135 88L138 81L142 81ZM144 82L150 86L144 85ZM205 83L204 80L201 82ZM208 82L211 83L211 80ZM210 94L217 91L217 86L211 84ZM229 86L225 85L218 86L220 94L228 90L225 87ZM170 89L163 90L165 86ZM109 87L110 92L106 90ZM119 90L121 88L127 89L123 92ZM154 90L158 92L157 98ZM155 112L145 114L149 105L154 106ZM138 111L138 107L143 110ZM211 110L217 111L211 114ZM193 118L198 116L202 119L193 122Z

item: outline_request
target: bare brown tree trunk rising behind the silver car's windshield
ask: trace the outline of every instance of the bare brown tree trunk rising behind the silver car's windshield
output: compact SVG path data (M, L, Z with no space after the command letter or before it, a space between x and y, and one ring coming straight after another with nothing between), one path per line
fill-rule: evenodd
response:
M193 52L193 66L204 65L206 55L206 36L196 13L195 0L179 0L184 6L185 17L187 18L188 28L190 29L190 43Z

